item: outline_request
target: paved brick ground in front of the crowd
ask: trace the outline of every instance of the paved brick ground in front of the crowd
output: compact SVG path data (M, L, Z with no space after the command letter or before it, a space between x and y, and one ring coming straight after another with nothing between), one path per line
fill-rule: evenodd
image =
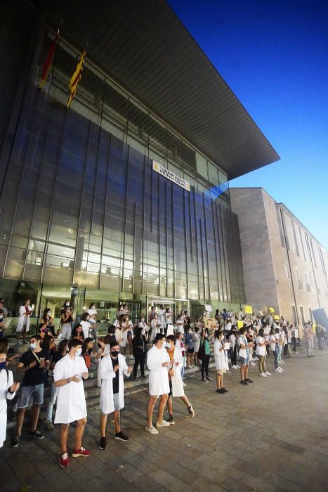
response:
M316 351L315 358L303 351L283 367L284 373L266 379L253 368L248 387L234 370L225 378L225 395L216 394L214 382L190 375L185 391L195 418L176 401L176 425L157 436L145 432L147 394L140 389L126 398L122 412L131 441L108 439L107 451L98 448L99 410L93 406L84 439L91 458L72 458L67 469L58 467L57 427L37 442L25 428L20 448L11 449L7 439L0 451L0 489L327 491L328 351Z

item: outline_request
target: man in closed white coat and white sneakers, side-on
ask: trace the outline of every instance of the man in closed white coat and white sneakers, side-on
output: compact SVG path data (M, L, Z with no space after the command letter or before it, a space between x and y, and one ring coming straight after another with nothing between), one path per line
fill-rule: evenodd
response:
M155 403L160 396L158 418L156 427L166 427L170 422L163 420L164 408L170 391L169 373L174 375L169 368L170 358L164 348L164 333L157 333L154 344L147 354L147 368L149 369L149 401L147 406L147 426L146 431L150 434L158 434L157 429L152 425L152 412Z

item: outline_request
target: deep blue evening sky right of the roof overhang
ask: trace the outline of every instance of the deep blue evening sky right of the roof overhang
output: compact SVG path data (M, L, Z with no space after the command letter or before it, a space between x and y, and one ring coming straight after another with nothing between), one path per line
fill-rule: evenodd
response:
M328 249L327 1L169 5L280 155L230 186L263 186Z

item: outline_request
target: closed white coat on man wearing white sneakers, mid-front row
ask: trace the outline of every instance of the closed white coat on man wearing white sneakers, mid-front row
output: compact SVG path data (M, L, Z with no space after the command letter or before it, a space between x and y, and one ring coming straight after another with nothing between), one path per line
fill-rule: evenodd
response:
M163 367L164 362L169 362L170 356L164 347L157 349L152 346L147 354L147 368L149 369L149 394L159 396L169 394L169 368Z

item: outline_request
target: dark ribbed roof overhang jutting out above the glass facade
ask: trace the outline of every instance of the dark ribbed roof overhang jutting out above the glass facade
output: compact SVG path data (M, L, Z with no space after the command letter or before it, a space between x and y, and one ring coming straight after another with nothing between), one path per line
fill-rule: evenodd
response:
M44 2L46 22L232 179L280 159L164 0ZM87 46L87 47L86 47Z

